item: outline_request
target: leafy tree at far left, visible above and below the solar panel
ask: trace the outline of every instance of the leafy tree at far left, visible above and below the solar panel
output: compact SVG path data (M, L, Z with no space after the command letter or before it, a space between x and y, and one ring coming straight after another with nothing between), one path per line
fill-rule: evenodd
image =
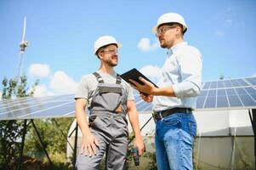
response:
M20 80L3 78L2 99L23 98L32 96L38 81L35 82L31 91L26 88L27 77L22 76ZM0 121L0 169L13 169L16 159L19 157L20 139L22 132L22 121L10 120Z

